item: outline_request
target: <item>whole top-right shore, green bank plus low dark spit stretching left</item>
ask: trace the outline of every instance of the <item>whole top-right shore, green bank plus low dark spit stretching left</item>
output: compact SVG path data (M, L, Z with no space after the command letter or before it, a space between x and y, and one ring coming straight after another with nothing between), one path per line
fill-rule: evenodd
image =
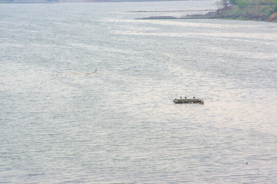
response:
M277 0L219 0L218 10L206 14L174 16L150 16L135 19L236 19L277 22ZM202 10L205 11L205 10ZM147 12L147 11L137 11ZM149 11L155 12L155 11ZM163 11L160 11L163 12ZM166 12L166 11L164 11ZM168 11L173 12L173 11Z

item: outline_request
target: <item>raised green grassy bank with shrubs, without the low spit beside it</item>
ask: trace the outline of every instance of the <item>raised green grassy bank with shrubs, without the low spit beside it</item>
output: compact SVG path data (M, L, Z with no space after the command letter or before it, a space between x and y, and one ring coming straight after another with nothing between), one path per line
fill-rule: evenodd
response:
M277 1L277 0L276 0ZM217 18L258 20L277 22L276 6L273 4L247 4L245 6L232 5L218 10Z

